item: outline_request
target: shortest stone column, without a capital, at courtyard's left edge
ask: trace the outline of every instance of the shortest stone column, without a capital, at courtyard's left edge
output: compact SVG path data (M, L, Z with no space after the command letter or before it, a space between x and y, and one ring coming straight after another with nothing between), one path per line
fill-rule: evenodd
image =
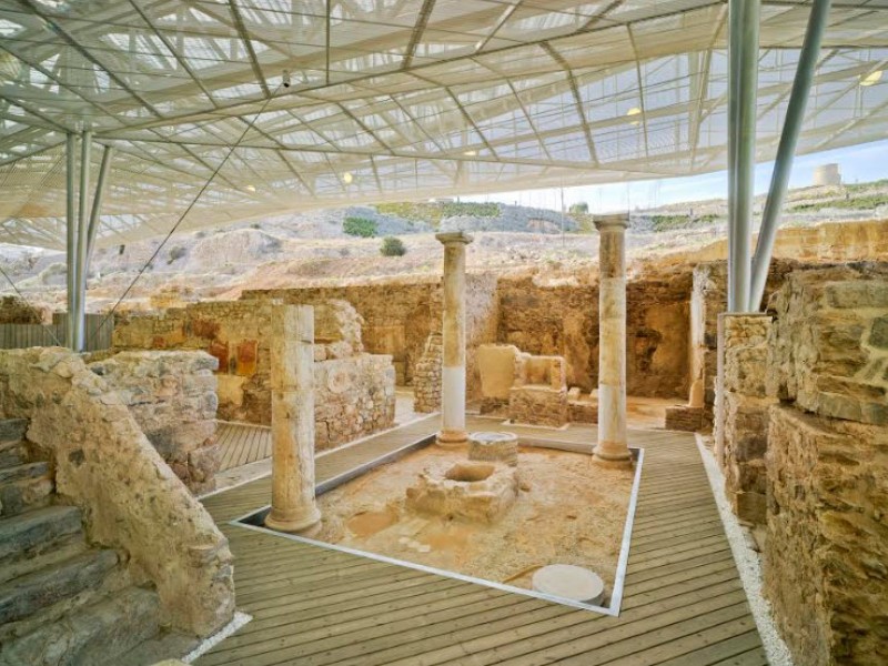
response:
M321 519L314 501L314 309L271 315L272 495L265 526L303 532Z

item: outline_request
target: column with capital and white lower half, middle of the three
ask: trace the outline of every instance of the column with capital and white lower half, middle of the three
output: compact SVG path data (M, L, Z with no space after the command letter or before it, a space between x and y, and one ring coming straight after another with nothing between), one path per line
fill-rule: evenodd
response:
M442 339L440 446L468 442L465 432L465 246L472 236L457 231L435 236L444 244L444 325Z

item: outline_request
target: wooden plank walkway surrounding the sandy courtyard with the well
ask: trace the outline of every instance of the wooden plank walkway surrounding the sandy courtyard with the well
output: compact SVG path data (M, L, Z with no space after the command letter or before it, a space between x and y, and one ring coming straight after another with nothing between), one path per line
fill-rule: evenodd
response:
M319 481L436 430L430 417L317 461ZM470 418L472 430L491 421ZM593 442L594 426L509 428ZM694 437L630 431L645 448L619 617L293 542L229 524L269 503L268 478L204 504L231 539L238 606L253 620L201 666L595 664L756 666L767 659Z

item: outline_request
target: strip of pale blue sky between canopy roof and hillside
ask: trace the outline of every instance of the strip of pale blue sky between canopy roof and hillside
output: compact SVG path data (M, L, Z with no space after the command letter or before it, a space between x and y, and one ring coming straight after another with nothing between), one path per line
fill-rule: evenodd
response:
M840 148L797 157L793 163L790 188L811 184L815 167L835 162L845 183L868 182L888 178L888 140ZM770 184L774 162L756 165L756 194L764 194ZM592 213L648 209L669 203L727 198L727 172L718 171L686 178L658 179L610 185L564 188L564 205L586 202ZM558 188L491 192L480 196L465 196L464 201L517 202L521 205L561 210L562 192Z

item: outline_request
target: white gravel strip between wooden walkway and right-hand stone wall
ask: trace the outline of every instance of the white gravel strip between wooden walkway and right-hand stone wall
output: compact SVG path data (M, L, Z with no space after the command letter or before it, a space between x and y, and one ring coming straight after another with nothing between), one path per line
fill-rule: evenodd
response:
M743 587L749 601L749 608L756 620L756 627L761 636L761 643L768 655L768 663L771 666L793 666L793 656L789 648L780 638L774 617L770 612L770 603L761 595L761 558L758 553L747 545L744 529L737 516L730 509L727 497L725 497L725 477L718 468L713 453L703 444L703 438L697 435L697 448L700 451L703 464L706 467L706 475L709 477L709 485L713 486L713 495L718 505L718 513L722 514L722 524L725 534L730 543L730 551L734 553L734 562L740 573Z

